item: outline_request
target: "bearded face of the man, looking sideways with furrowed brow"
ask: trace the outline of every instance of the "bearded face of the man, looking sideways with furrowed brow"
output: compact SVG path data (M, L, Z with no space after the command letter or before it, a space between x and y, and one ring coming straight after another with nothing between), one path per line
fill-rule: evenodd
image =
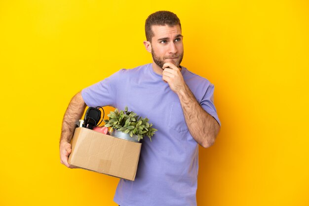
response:
M166 62L179 68L184 56L183 36L179 25L152 26L154 36L151 40L154 63L160 68Z

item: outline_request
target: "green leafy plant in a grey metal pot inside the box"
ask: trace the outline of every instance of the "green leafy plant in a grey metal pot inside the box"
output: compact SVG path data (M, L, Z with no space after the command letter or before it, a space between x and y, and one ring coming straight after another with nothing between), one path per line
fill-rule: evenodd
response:
M128 111L126 106L124 111L116 108L107 115L109 120L104 120L105 127L113 129L111 135L118 138L127 139L130 141L139 142L143 137L150 138L154 135L156 129L149 124L149 119L137 116L133 111Z

